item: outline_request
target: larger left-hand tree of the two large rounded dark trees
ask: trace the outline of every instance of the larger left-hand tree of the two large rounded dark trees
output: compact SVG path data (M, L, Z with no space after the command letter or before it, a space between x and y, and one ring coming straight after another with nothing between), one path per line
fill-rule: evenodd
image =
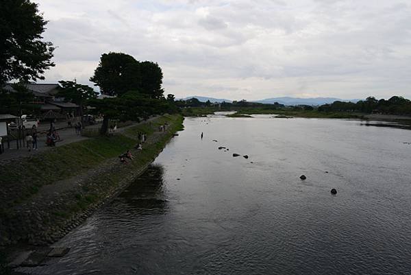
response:
M140 66L134 57L125 53L103 53L90 81L104 95L120 96L141 87Z

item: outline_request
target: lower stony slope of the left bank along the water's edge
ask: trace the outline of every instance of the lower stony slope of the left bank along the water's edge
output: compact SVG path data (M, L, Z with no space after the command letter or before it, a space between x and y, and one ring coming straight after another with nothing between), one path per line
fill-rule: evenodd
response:
M110 203L151 165L175 132L182 130L183 119L180 115L164 115L129 128L119 135L136 143L138 132L147 132L143 150L131 150L134 160L121 164L118 156L106 158L102 163L80 171L79 175L55 182L55 187L53 184L40 187L32 198L9 208L12 213L8 213L9 217L5 217L8 220L3 219L0 224L3 235L0 248L7 252L9 262L19 252L34 246L50 246L62 239L95 211ZM165 122L169 125L166 131L158 132L158 125ZM64 188L66 190L62 190Z

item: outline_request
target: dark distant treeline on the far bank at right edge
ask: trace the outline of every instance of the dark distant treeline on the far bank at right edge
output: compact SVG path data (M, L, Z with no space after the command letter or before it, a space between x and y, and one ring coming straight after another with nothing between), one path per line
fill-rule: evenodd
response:
M411 115L411 101L403 97L390 99L375 99L367 97L357 103L334 101L332 104L319 106L320 112L364 112L384 115Z

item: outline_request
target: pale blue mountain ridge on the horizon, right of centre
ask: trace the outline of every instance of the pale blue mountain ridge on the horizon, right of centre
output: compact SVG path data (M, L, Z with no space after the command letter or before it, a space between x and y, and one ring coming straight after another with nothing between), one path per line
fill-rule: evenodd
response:
M298 98L298 97L274 97L274 98L267 98L262 100L256 100L253 102L260 102L264 104L273 104L278 102L279 104L284 104L287 106L295 106L295 105L323 105L323 104L331 104L334 101L351 101L356 103L361 99L339 99L335 97L315 97L315 98Z

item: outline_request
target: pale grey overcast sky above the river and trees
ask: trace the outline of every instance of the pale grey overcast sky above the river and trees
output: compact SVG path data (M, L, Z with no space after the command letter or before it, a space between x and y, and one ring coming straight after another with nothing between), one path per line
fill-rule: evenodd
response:
M102 53L158 62L165 93L411 98L411 1L34 0L56 66L89 81Z

